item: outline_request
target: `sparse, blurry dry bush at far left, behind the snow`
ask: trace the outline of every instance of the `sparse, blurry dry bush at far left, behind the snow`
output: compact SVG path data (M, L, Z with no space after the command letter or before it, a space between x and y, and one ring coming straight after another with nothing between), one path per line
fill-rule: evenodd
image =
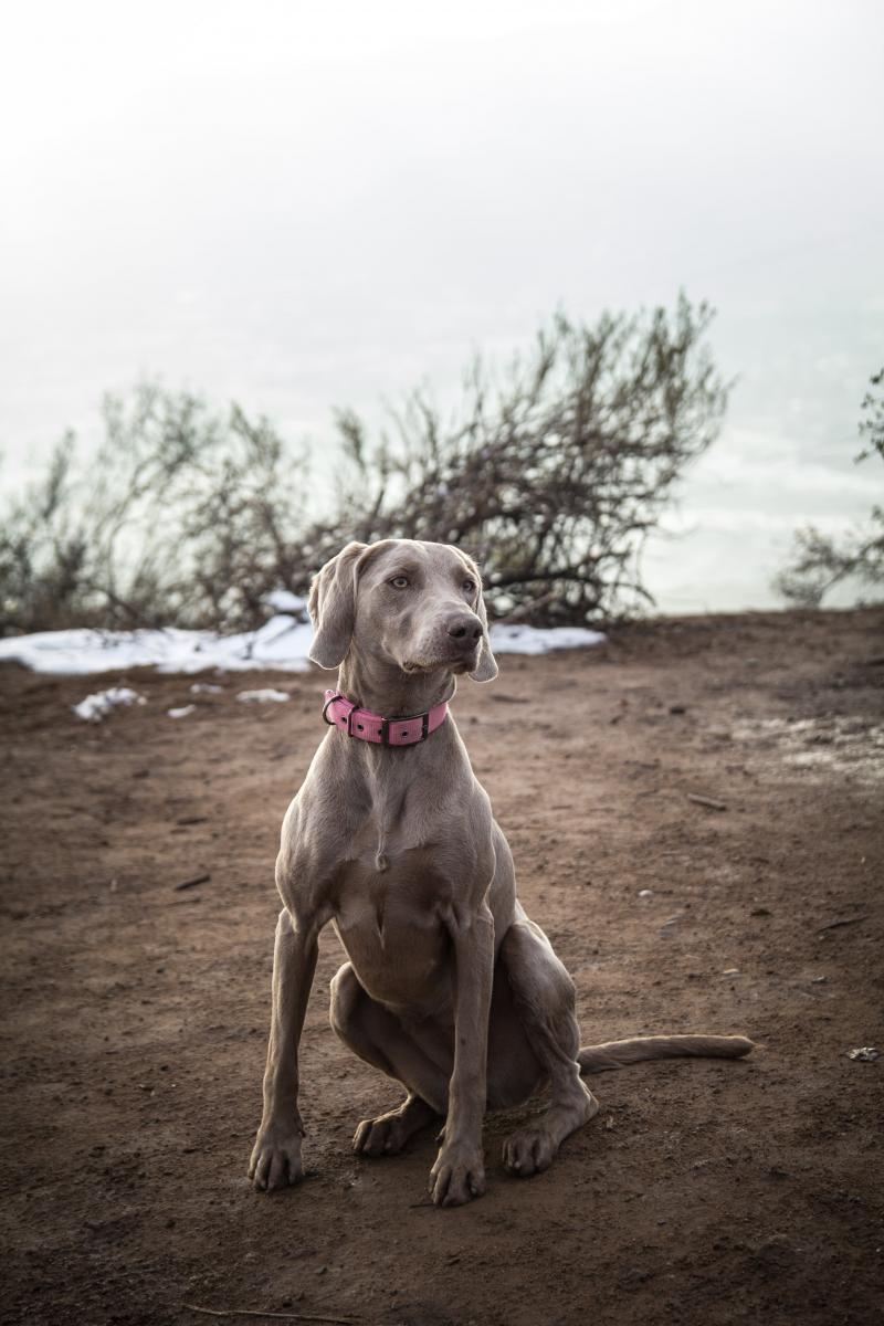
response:
M304 461L266 420L156 385L102 412L98 451L78 464L68 434L7 512L0 631L261 621L264 595L296 574Z

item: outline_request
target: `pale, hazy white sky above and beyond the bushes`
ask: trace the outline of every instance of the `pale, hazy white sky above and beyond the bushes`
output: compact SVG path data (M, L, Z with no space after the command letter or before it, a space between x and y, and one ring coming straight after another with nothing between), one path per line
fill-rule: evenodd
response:
M795 526L884 499L852 461L881 52L876 0L4 5L0 491L150 377L266 414L321 492L334 407L447 399L557 308L684 288L734 386L645 579L665 611L777 606Z

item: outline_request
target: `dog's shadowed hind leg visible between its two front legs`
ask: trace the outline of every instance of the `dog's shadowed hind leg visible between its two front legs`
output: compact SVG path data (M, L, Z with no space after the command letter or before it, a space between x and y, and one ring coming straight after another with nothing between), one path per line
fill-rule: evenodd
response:
M445 1114L451 1070L447 1074L435 1063L392 1013L366 993L350 963L331 981L330 1016L354 1054L408 1093L395 1110L363 1119L353 1139L359 1155L396 1155L415 1132Z

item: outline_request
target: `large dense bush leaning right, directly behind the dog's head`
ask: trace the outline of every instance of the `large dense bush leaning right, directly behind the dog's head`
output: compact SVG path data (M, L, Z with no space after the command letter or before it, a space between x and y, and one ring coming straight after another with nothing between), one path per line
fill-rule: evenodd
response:
M704 335L710 312L558 316L497 382L476 363L445 422L423 392L370 450L339 419L358 538L459 544L498 615L610 621L649 595L639 557L685 465L716 436L726 391ZM335 524L335 522L333 522ZM341 520L337 521L335 534Z

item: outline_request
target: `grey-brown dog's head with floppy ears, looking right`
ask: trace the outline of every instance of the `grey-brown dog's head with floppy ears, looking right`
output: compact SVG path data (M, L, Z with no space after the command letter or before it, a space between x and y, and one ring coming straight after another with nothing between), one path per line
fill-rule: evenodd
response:
M309 609L319 667L338 667L355 639L403 672L497 676L478 569L449 544L347 544L314 577Z

